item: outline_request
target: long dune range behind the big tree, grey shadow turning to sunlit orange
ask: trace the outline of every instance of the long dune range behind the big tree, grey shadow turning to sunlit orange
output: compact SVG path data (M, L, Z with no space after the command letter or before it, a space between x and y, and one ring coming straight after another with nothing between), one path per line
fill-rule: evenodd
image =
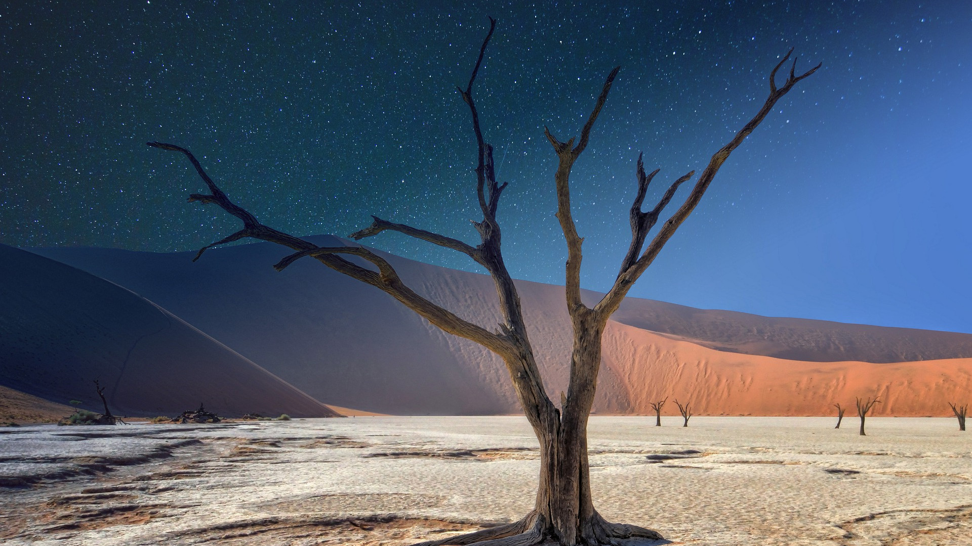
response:
M326 235L306 239L319 246L348 244ZM156 301L241 355L329 403L388 414L519 412L499 358L474 343L442 333L380 290L334 273L312 259L298 260L283 272L274 271L271 265L286 256L287 249L266 243L212 249L194 263L193 253L68 248L33 252L70 263ZM410 286L434 302L476 324L491 327L500 322L489 277L381 254ZM558 400L559 392L567 386L571 345L564 289L523 281L517 286L547 390ZM600 294L585 292L584 297L593 303ZM868 395L882 385L894 384L896 379L888 376L884 383L874 385L861 379L853 384L847 379L850 372L840 375L842 369L860 364L884 370L869 376L879 381L900 366L870 366L851 360L953 358L937 364L936 369L945 374L942 382L915 390L914 379L902 379L893 391L895 400L924 396L923 402L888 400L880 407L887 415L898 407L902 415L940 415L939 406L944 404L941 396L954 392L945 386L949 381L959 381L953 375L963 374L963 358L972 357L969 334L772 319L634 298L625 301L616 319L608 331L606 365L599 376L595 399L595 411L599 412L648 413L643 396L655 395L649 379L672 377L682 368L682 373L687 373L685 366L704 361L708 362L706 369L696 374L694 384L700 392L715 393L722 388L722 384L703 385L709 379L729 385L727 378L735 377L732 370L746 362L763 366L752 368L753 373L765 374L773 368L773 373L781 374L780 382L794 387L784 390L777 401L760 398L749 388L751 403L726 387L729 390L724 395L712 394L711 404L705 410L699 406L699 411L829 415L833 402L794 405L787 396L806 394L816 400L816 387L812 389L811 383L843 381L850 401L833 401L852 403L855 393ZM706 357L698 357L697 352L703 350ZM916 363L908 369L920 376L924 373L920 370L929 366ZM837 375L823 379L816 371ZM756 379L740 381L744 386ZM862 391L851 393L857 387ZM843 392L839 391L833 392ZM729 405L721 408L722 403Z

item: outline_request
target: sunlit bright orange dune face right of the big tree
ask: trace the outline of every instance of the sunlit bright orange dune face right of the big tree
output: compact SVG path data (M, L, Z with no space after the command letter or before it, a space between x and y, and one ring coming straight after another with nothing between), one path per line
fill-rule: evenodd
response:
M972 358L917 362L808 362L725 353L612 322L605 333L604 367L623 389L602 391L596 410L651 414L648 402L691 401L700 415L836 415L854 396L878 395L873 415L952 415L947 402L967 403ZM602 376L605 371L602 372Z

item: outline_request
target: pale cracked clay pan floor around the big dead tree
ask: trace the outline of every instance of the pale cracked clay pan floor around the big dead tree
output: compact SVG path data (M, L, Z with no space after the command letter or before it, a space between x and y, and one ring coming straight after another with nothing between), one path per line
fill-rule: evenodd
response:
M955 419L872 418L867 436L835 422L592 417L595 504L676 544L972 544L972 436ZM0 480L20 486L0 489L0 542L405 544L450 531L328 526L515 520L536 448L522 417L8 428Z

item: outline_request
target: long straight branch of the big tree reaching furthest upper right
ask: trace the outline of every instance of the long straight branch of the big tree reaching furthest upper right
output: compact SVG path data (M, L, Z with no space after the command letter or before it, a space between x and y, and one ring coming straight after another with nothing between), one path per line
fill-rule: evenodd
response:
M665 243L667 243L669 239L675 235L675 232L678 226L681 225L681 222L684 222L685 219L688 218L688 215L695 210L696 205L698 205L699 201L702 200L702 195L706 192L706 189L709 188L709 185L712 184L712 179L715 178L715 173L718 172L719 168L729 157L729 154L732 154L734 150L743 144L746 137L752 133L759 123L763 121L763 119L766 119L766 116L773 110L773 106L781 99L783 95L793 88L793 85L796 85L797 82L808 78L810 75L814 74L818 68L820 68L822 63L817 64L814 68L808 70L800 76L796 76L794 74L794 68L791 67L789 76L786 78L786 82L778 88L775 82L777 71L780 69L782 64L786 62L792 51L793 50L791 49L789 52L787 52L770 73L770 95L766 98L766 101L763 103L762 108L759 109L759 112L757 112L752 119L749 119L749 121L746 122L746 125L744 125L743 128L736 133L728 144L719 149L719 151L715 154L712 154L709 164L706 166L705 170L702 171L702 175L699 177L698 182L695 183L695 187L692 188L692 191L685 199L685 202L682 203L681 207L679 207L676 213L672 215L672 218L662 225L662 228L655 235L654 239L652 239L651 243L649 243L647 248L644 249L642 256L639 257L634 264L628 267L627 270L618 275L617 279L614 281L614 285L604 296L604 298L601 299L597 306L595 306L595 312L599 313L603 321L607 322L611 313L617 310L618 306L621 304L621 300L623 300L624 296L628 293L628 290L631 290L631 287L635 284L635 281L637 281L638 278L642 276L642 273L644 273L644 270L651 265L651 262L654 261L655 257L658 256L658 253L661 252L662 247L665 246ZM796 66L796 61L794 61L793 66Z

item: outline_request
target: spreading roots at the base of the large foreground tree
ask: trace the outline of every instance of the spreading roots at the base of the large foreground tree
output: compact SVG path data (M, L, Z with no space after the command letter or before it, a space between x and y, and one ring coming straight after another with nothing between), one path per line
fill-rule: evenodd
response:
M438 540L420 542L414 546L542 546L562 545L553 532L544 525L544 518L537 512L531 512L522 520L489 529L481 529L467 534L450 536ZM628 538L649 538L662 540L657 531L644 529L627 524L613 524L606 521L600 514L583 529L583 535L577 537L577 544L585 546L616 545Z

